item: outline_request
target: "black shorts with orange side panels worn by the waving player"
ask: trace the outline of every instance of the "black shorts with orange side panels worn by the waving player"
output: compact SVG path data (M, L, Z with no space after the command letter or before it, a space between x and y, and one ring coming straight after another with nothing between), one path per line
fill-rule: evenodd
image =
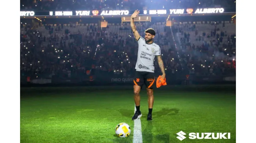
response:
M147 88L153 89L155 83L154 73L136 71L133 83L141 88L145 84Z

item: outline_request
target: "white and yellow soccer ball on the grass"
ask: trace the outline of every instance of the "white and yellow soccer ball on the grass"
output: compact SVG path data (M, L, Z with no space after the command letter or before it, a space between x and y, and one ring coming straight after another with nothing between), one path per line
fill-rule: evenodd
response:
M120 123L116 127L118 137L128 137L131 134L131 128L127 123Z

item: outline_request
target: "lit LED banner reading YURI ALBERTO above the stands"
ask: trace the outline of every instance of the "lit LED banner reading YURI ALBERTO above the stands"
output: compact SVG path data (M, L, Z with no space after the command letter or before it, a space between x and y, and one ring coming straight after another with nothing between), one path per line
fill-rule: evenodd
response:
M187 9L160 9L160 10L140 10L139 15L163 15L163 14L200 14L200 13L223 13L232 12L223 8L187 8ZM234 12L234 11L233 11ZM81 11L20 11L21 17L34 16L93 16L93 15L131 15L134 10L81 10Z

